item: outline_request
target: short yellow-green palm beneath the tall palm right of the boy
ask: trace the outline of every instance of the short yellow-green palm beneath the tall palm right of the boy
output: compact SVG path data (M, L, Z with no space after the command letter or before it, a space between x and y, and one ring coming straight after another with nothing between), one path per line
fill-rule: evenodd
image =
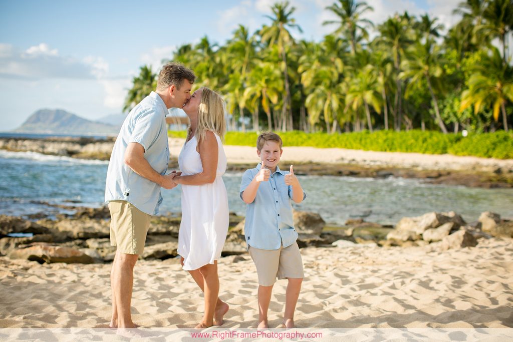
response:
M349 90L346 95L346 110L351 109L357 113L363 105L367 116L367 127L372 132L372 120L370 118L369 104L376 112L381 113L381 100L378 92L378 80L373 66L367 65L361 69L356 77L349 81Z

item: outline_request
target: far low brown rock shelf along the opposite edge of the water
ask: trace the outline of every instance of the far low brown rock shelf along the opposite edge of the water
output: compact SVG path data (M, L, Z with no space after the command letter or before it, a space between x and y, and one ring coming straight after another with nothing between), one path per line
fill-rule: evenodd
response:
M104 140L94 138L0 138L0 150L13 152L37 152L49 155L68 156L73 158L108 160L114 144L114 138ZM176 149L179 142L170 144ZM169 167L176 169L177 160L171 153ZM299 175L330 175L352 177L403 177L419 178L425 183L463 185L479 188L513 188L513 169L509 167L486 166L469 169L441 169L440 167L426 169L413 168L406 165L389 165L389 163L376 163L373 160L358 161L345 160L344 163L319 163L297 160L287 160L294 163L294 171ZM255 163L247 163L244 160L231 158L228 162L228 171L242 172L254 167ZM509 165L509 164L508 164Z

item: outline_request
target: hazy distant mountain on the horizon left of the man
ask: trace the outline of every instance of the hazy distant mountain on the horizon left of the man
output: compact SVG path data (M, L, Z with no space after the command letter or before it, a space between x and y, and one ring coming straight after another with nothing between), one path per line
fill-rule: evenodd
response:
M62 109L40 109L13 132L70 135L115 135L119 126L94 122Z

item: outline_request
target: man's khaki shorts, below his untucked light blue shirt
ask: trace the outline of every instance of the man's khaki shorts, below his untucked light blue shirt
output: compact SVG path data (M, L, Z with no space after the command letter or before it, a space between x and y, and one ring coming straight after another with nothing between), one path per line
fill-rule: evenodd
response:
M109 210L110 245L117 246L121 253L143 254L151 215L126 200L111 200Z

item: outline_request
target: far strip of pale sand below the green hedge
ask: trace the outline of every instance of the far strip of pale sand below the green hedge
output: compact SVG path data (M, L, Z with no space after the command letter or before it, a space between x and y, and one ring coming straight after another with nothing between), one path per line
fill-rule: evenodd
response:
M184 139L170 138L171 156L177 157ZM225 146L228 163L259 162L256 147ZM464 157L450 154L422 154L403 152L374 152L338 148L285 147L282 160L287 163L336 163L368 166L418 168L426 170L475 170L513 172L513 159Z

